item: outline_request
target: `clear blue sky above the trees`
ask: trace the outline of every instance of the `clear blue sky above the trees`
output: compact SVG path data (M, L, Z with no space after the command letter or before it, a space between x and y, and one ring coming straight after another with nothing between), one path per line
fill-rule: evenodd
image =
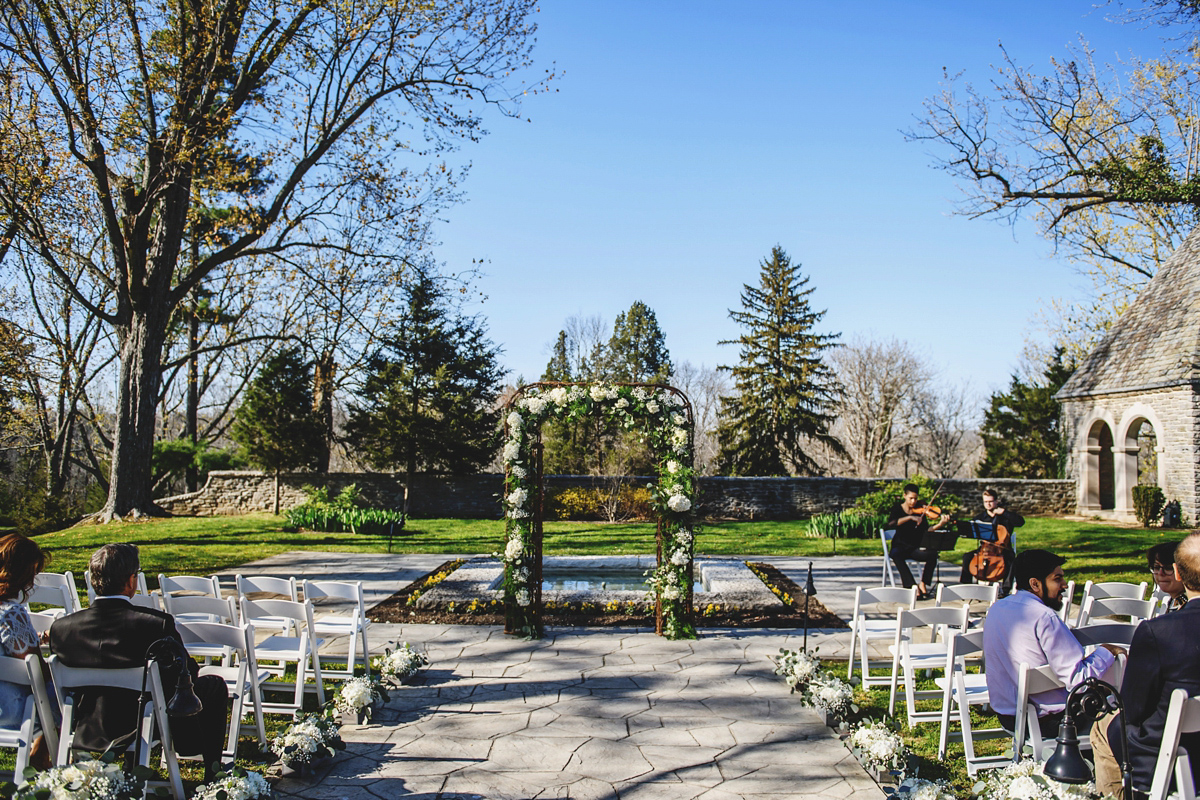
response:
M816 288L823 329L896 337L948 381L1007 385L1051 297L1084 281L1032 225L952 216L958 187L906 143L942 68L985 85L1003 43L1039 71L1084 35L1147 58L1157 30L1079 0L546 0L522 119L492 115L466 203L437 229L478 288L509 379L540 377L566 317L649 305L672 357L730 363L727 311L774 245Z

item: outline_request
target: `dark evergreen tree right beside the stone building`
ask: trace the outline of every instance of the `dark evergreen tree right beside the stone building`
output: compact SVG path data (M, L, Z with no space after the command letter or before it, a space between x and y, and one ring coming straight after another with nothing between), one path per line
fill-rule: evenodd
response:
M1007 392L991 396L979 428L979 477L1062 477L1062 409L1054 396L1074 371L1073 363L1063 363L1058 347L1040 383L1013 375Z

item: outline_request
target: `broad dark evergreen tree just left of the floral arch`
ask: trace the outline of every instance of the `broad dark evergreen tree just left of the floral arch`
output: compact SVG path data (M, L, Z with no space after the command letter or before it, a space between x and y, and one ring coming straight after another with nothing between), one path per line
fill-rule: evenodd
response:
M498 444L493 409L504 371L486 325L450 307L440 282L419 273L404 289L394 332L367 361L347 435L377 469L463 475Z

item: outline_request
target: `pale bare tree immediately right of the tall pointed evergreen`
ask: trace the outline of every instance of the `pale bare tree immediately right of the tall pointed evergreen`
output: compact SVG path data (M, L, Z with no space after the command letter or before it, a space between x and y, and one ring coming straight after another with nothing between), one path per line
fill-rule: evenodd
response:
M853 473L883 475L914 427L932 369L907 343L856 337L830 351L841 384L835 435Z

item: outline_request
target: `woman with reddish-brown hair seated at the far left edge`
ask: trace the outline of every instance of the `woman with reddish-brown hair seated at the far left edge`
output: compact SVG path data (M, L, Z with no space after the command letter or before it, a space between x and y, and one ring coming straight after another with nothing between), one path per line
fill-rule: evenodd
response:
M0 536L0 655L24 658L38 651L38 636L24 600L34 588L34 577L46 566L46 553L34 540L20 534ZM0 726L19 726L25 716L29 687L0 680ZM48 766L46 742L34 740L30 763Z

